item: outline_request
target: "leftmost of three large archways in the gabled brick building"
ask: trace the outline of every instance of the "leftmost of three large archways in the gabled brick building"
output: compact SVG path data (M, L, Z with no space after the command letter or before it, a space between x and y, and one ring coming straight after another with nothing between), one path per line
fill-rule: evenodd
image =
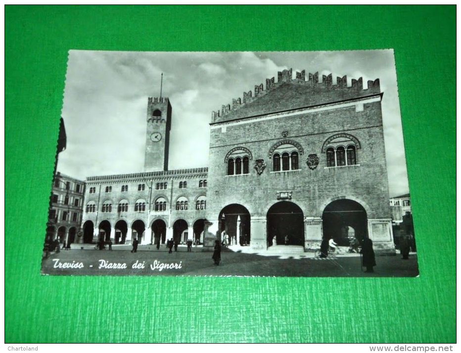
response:
M240 239L242 242L250 244L250 213L244 206L239 204L226 206L219 213L219 221L221 224L220 232L226 231L231 244L239 244Z

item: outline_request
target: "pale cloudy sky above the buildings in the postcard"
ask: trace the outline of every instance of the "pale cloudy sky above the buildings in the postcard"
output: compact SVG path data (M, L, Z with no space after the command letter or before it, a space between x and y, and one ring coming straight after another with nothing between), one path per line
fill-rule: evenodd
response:
M173 108L169 169L208 165L211 111L283 69L380 79L389 192L409 192L392 50L311 52L116 52L71 50L62 117L67 149L58 171L87 176L135 173L144 165L147 97ZM187 153L184 158L184 153Z

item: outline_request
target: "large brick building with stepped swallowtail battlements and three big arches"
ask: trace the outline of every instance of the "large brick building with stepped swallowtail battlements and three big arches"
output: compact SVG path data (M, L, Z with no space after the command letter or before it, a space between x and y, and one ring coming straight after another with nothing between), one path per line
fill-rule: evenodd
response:
M336 81L284 70L212 113L207 238L308 250L369 237L394 251L379 80Z

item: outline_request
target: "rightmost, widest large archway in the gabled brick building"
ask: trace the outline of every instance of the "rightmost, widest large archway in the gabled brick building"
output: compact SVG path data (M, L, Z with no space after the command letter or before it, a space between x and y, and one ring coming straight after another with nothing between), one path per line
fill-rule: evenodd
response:
M340 246L348 246L352 238L362 241L368 237L367 211L356 201L335 200L322 214L323 239L333 238Z

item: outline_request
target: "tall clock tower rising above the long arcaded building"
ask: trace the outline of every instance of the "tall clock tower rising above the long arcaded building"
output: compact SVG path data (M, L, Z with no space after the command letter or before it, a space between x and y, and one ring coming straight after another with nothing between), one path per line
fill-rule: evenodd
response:
M147 128L145 141L145 172L168 170L170 146L171 105L166 97L147 100Z

